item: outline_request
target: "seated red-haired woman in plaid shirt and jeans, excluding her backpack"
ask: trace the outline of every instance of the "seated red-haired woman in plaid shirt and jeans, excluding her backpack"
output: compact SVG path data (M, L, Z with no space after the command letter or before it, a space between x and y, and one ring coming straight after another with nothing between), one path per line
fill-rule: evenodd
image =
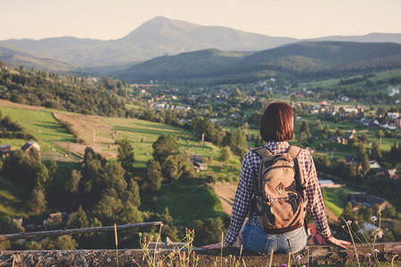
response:
M260 120L260 135L266 141L266 148L274 154L286 152L294 135L293 110L285 102L271 103ZM307 150L299 153L299 164L306 181L307 207L312 214L317 230L323 238L339 247L347 248L350 242L335 239L327 223L322 192L320 190L315 164ZM244 247L259 253L281 252L291 254L307 246L307 232L304 227L282 234L268 234L258 222L256 208L251 205L252 195L257 192L260 158L249 151L242 160L240 182L233 202L230 228L223 247ZM246 216L249 214L249 219ZM241 233L240 233L241 231ZM235 244L234 244L235 243ZM222 247L221 243L204 246L212 249Z

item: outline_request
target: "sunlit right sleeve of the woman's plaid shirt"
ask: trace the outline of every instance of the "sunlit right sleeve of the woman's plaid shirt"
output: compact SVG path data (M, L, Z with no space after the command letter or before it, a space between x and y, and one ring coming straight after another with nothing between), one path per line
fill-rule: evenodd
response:
M310 153L308 153L307 157L307 177L305 178L307 181L307 206L314 218L317 231L320 232L323 238L329 238L331 236L331 231L329 223L327 223L322 191L317 179L315 162Z

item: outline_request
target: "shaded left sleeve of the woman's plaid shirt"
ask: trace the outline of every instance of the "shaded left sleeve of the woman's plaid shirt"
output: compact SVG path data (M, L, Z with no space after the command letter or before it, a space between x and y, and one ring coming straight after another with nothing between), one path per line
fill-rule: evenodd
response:
M253 155L252 155L253 154ZM250 211L250 202L254 188L253 171L250 162L251 157L258 157L255 153L249 152L242 160L240 182L233 201L233 212L231 214L230 228L227 231L225 240L229 243L235 242L241 231L245 217Z

